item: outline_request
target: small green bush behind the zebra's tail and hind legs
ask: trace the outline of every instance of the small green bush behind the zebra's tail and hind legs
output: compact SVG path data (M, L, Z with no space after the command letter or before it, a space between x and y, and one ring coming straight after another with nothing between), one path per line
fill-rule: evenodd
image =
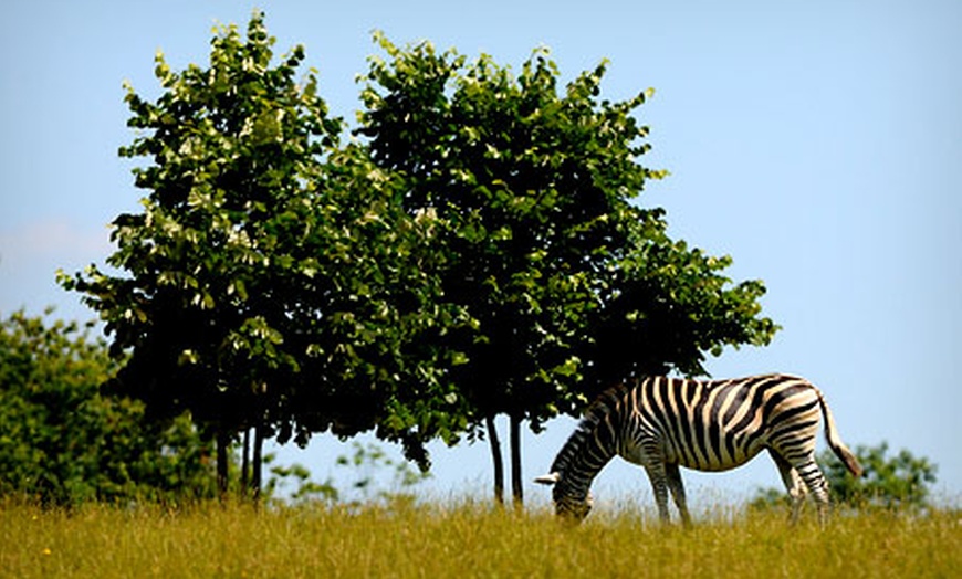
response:
M928 506L931 487L935 484L937 466L924 456L916 456L906 449L895 456L890 456L888 451L887 442L875 446L856 446L855 455L865 469L859 478L846 476L845 465L834 453L819 453L818 464L828 481L833 498L856 508L913 509ZM756 493L751 504L755 508L768 508L782 504L783 499L783 492L765 488Z

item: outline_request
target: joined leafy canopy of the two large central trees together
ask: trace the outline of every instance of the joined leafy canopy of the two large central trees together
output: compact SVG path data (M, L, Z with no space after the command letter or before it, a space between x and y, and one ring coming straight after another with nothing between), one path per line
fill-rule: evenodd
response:
M221 448L376 429L422 466L426 441L509 414L520 466L521 422L774 334L761 282L639 202L667 175L639 164L652 92L603 99L607 63L563 83L545 50L515 72L377 34L345 138L304 49L274 42L254 12L206 67L158 53L160 97L127 87L119 152L147 193L113 222L118 273L61 275L153 413L189 410Z

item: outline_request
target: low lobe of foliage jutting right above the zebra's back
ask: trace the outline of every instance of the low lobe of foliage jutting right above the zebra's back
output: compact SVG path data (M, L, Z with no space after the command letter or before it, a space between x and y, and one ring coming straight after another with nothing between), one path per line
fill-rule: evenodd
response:
M662 210L636 215L624 254L609 265L603 306L593 312L586 389L672 370L704 375L707 354L771 341L778 326L761 315L761 281L733 284L721 273L730 256L671 240Z

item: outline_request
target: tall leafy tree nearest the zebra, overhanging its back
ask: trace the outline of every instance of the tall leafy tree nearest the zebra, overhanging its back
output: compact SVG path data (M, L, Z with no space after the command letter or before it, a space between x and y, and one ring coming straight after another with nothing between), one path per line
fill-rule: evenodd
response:
M523 420L537 431L578 413L604 381L700 369L703 350L771 338L774 325L757 318L761 283L729 287L717 274L726 259L672 242L662 211L631 204L666 175L637 162L650 146L632 113L650 91L600 101L604 63L560 91L544 50L515 75L487 55L469 63L429 43L376 41L389 61L370 61L358 133L381 167L407 177L407 211L435 213L443 228L445 293L478 320L452 339L467 352L458 380L472 432L483 423L492 442L495 496L494 415L511 419L520 502ZM667 349L640 366L605 339L611 330L653 344L666 329Z

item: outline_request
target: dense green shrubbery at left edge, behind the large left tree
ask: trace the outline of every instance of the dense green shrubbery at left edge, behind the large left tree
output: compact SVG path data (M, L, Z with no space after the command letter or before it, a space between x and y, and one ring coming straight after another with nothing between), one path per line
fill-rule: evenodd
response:
M212 451L186 417L98 393L117 369L91 325L14 312L0 322L0 495L45 505L213 495Z

